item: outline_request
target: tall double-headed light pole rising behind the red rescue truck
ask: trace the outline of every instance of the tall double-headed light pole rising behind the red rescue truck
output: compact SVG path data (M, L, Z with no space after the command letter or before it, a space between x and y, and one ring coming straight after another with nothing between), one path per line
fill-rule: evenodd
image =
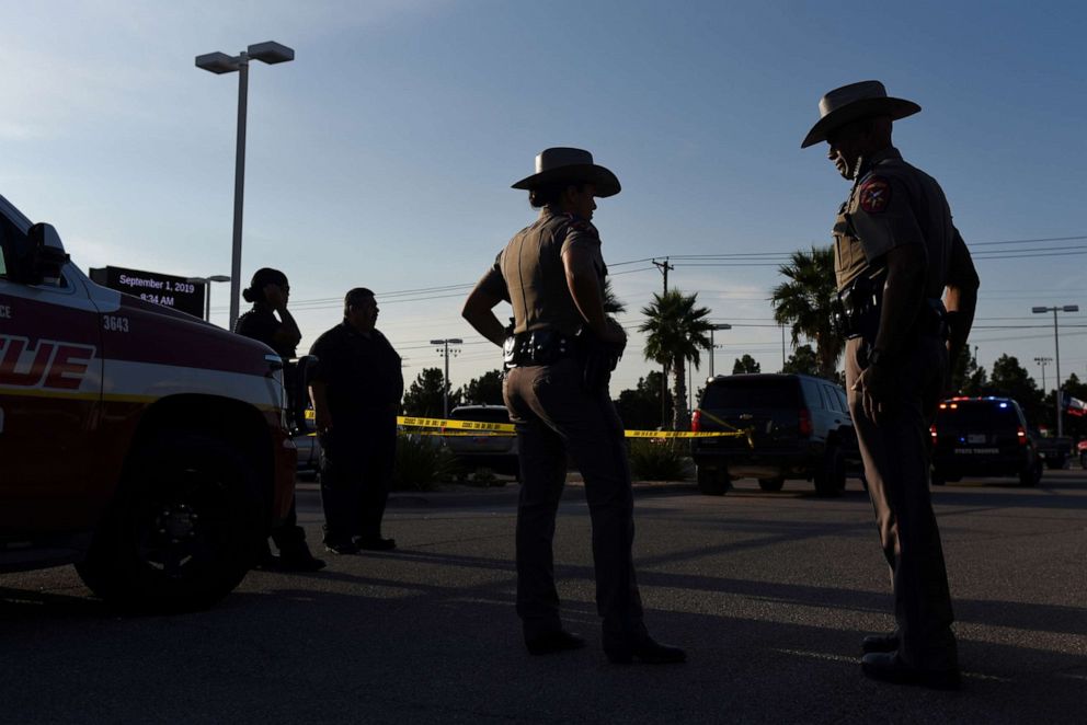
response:
M196 56L196 67L213 73L238 71L238 148L234 157L234 232L230 253L230 330L238 322L238 300L241 296L241 209L245 192L245 106L249 96L249 61L268 65L295 59L295 51L274 41L256 43L237 56L208 53Z

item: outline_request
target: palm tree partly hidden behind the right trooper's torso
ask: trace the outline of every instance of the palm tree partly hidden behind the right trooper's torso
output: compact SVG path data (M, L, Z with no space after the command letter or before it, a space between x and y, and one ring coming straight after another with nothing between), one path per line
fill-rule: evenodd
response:
M812 246L812 253L793 252L789 264L778 267L789 278L770 292L774 319L791 325L793 346L801 337L815 343L819 372L833 379L845 340L834 329L832 301L834 284L834 249Z

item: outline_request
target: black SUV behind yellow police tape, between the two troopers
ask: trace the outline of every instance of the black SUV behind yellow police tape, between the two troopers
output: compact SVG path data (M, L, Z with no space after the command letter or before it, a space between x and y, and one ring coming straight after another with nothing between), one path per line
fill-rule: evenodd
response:
M705 494L721 495L730 481L752 476L763 491L780 491L786 479L805 479L821 496L837 496L847 467L860 459L845 391L811 376L712 378L691 430L744 434L693 440L698 488Z

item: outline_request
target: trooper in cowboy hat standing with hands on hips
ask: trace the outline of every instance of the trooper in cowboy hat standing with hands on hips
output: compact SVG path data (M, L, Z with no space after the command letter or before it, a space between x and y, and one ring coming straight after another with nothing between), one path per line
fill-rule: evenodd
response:
M513 187L528 189L540 216L499 254L462 314L489 341L504 345L502 392L520 456L517 614L525 644L534 655L585 646L562 628L554 586L552 539L569 452L584 477L593 521L605 654L616 664L684 661L683 649L653 641L642 622L631 553L630 471L622 422L607 389L627 336L604 313L607 268L592 218L594 197L618 194L619 180L594 164L588 151L550 148L536 157L536 173ZM493 311L502 300L514 311L508 338ZM610 364L602 364L605 348L614 355Z

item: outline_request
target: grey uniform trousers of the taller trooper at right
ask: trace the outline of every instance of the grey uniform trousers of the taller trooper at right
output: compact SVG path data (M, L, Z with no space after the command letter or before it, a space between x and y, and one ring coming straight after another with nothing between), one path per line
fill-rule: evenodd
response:
M895 366L890 410L880 425L866 417L853 390L860 376L860 340L846 345L846 389L857 427L868 494L876 509L883 555L891 567L899 655L918 667L956 664L954 620L940 531L929 496L929 426L947 370L937 337L918 337Z

